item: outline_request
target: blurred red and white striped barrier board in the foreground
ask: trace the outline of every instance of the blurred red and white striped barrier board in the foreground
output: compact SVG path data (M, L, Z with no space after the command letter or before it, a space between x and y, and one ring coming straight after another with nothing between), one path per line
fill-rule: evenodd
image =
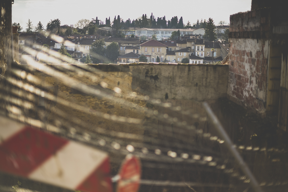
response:
M112 192L107 153L1 116L0 171L71 190Z

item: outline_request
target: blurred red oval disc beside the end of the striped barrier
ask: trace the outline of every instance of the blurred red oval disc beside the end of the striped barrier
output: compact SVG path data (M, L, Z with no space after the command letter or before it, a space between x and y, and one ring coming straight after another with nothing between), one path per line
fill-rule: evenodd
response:
M141 178L139 160L132 155L127 155L120 168L119 176L117 192L137 192Z

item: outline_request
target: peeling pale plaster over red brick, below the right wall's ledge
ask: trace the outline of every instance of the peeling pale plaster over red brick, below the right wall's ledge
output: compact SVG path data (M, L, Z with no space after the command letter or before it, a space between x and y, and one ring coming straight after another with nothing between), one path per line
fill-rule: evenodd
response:
M228 96L237 103L265 113L269 41L230 39Z

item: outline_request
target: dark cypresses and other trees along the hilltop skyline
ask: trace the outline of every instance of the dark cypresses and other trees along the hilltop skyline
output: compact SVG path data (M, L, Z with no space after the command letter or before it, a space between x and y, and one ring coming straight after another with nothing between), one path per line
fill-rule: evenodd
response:
M126 21L124 21L120 16L116 18L114 17L113 21L111 22L110 17L106 18L105 24L104 21L101 21L96 17L96 19L92 18L92 20L88 19L81 19L77 21L75 24L75 28L71 28L70 26L67 26L67 29L65 32L60 30L60 20L54 19L47 23L46 29L44 29L43 24L41 21L37 23L37 26L33 27L32 21L28 19L27 28L24 30L25 32L40 32L43 30L47 31L53 31L55 28L56 33L58 34L64 34L64 35L71 35L71 34L86 34L88 31L88 34L95 34L98 28L100 27L111 27L114 29L115 32L111 34L111 36L114 37L121 37L123 34L121 33L121 30L125 30L128 27L144 27L144 28L172 28L172 29L183 29L183 28L204 28L206 29L207 21L204 19L204 21L199 19L196 21L196 23L191 24L188 20L187 24L183 23L183 18L180 17L178 19L177 16L172 17L170 20L166 20L166 17L155 17L153 13L151 13L150 17L147 17L146 14L143 14L142 17L139 17L137 19L130 20L130 18ZM218 25L224 25L226 24L225 21L220 21ZM18 32L21 32L23 28L18 23L13 23L13 26L18 26Z

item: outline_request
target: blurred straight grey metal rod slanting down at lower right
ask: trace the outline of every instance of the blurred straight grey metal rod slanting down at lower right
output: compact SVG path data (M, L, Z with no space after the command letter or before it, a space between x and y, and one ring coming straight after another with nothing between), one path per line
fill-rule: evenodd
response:
M228 147L229 151L232 153L233 157L235 160L238 162L240 165L241 170L250 178L250 185L254 189L255 192L263 192L262 189L260 188L256 178L250 171L249 167L247 164L244 162L243 158L241 155L238 153L238 151L233 147L233 143L230 140L229 136L227 135L226 131L224 130L223 126L219 122L218 118L215 116L211 108L206 102L203 102L203 107L209 116L209 118L212 120L213 124L216 127L217 132L219 133L219 136L224 139L224 144Z

